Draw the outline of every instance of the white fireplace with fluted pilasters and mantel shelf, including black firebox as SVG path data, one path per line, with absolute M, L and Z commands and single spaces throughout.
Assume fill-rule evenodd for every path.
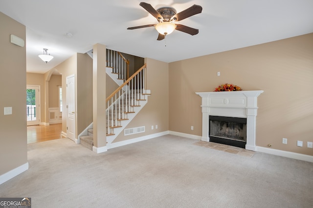
M 196 93 L 201 96 L 201 140 L 222 144 L 228 142 L 228 145 L 255 151 L 257 97 L 263 92 Z M 221 118 L 225 120 L 221 121 Z

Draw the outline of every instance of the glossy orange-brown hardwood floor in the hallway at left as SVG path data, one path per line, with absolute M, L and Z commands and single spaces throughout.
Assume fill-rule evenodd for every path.
M 27 144 L 64 138 L 61 133 L 62 123 L 27 126 Z

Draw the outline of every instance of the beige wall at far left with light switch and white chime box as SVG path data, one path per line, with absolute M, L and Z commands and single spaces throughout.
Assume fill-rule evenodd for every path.
M 0 12 L 0 28 L 1 176 L 27 163 L 27 132 L 26 47 L 10 43 L 11 34 L 26 40 L 25 26 Z M 12 114 L 4 115 L 4 107 L 12 107 Z

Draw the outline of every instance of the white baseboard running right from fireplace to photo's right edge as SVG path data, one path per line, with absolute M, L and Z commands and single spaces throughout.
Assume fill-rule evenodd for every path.
M 274 154 L 274 155 L 278 155 L 278 156 L 282 156 L 282 157 L 289 157 L 289 158 L 296 159 L 296 160 L 304 160 L 304 161 L 308 161 L 308 162 L 313 163 L 313 156 L 307 155 L 307 154 L 300 154 L 300 153 L 295 153 L 295 152 L 291 152 L 291 151 L 269 149 L 269 148 L 259 147 L 259 146 L 256 147 L 256 151 L 264 152 L 264 153 L 268 153 L 268 154 Z

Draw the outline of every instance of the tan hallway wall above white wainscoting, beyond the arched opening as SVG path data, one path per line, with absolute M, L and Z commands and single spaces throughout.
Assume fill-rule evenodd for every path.
M 51 75 L 49 80 L 49 108 L 59 108 L 59 86 L 62 87 L 62 76 Z

